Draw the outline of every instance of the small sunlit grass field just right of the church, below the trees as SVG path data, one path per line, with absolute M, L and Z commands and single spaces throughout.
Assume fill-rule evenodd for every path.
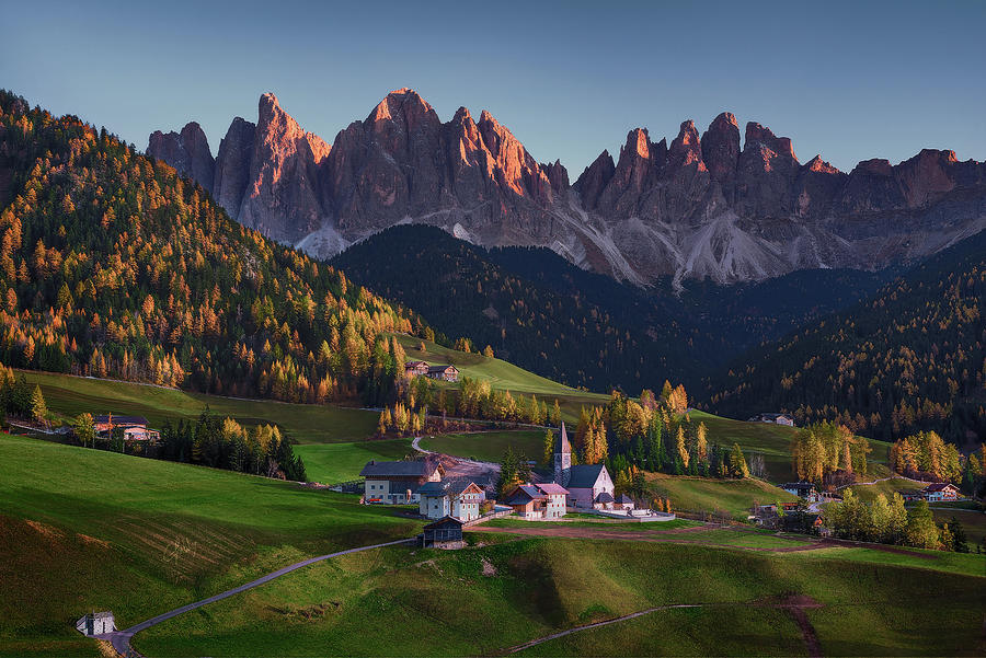
M 798 497 L 761 480 L 712 480 L 678 477 L 652 473 L 647 484 L 654 495 L 670 498 L 672 511 L 692 510 L 715 513 L 724 510 L 745 521 L 754 505 L 788 503 Z

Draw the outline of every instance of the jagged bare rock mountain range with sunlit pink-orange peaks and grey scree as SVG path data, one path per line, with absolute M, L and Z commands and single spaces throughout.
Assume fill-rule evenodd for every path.
M 190 128 L 191 126 L 191 128 Z M 730 113 L 670 145 L 644 128 L 570 184 L 489 112 L 443 123 L 419 94 L 391 92 L 328 145 L 261 96 L 236 118 L 215 173 L 193 124 L 148 154 L 187 172 L 231 217 L 325 257 L 398 223 L 429 223 L 483 246 L 546 246 L 583 268 L 651 285 L 670 277 L 757 281 L 800 269 L 874 270 L 917 262 L 986 228 L 986 164 L 924 150 L 846 174 L 801 164 L 787 137 Z M 184 160 L 183 160 L 184 158 Z M 195 172 L 200 173 L 195 173 Z M 198 176 L 204 176 L 204 180 Z

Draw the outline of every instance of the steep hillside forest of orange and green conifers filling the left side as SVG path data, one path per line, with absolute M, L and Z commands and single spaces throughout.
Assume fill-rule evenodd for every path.
M 227 217 L 174 169 L 0 92 L 0 359 L 210 393 L 392 396 L 424 323 Z M 398 362 L 401 361 L 401 362 Z

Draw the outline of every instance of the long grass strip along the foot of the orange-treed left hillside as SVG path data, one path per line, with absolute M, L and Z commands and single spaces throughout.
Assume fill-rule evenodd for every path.
M 25 370 L 27 381 L 41 384 L 48 408 L 66 420 L 82 412 L 145 416 L 151 427 L 167 420 L 195 419 L 205 405 L 242 425 L 279 425 L 296 441 L 326 443 L 372 435 L 379 414 L 333 405 L 287 404 L 271 400 L 239 400 L 188 393 L 177 389 Z

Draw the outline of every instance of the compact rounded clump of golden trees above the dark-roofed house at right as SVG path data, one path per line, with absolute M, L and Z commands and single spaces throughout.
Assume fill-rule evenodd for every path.
M 816 484 L 847 484 L 869 470 L 872 452 L 864 437 L 845 425 L 822 422 L 804 427 L 791 441 L 791 462 L 799 480 Z

